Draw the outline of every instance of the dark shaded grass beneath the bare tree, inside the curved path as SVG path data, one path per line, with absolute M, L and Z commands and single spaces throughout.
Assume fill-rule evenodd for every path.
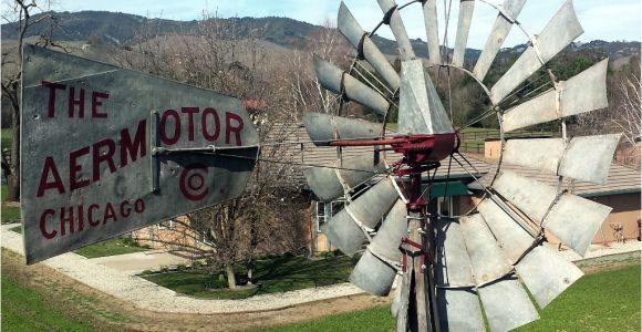
M 312 287 L 346 282 L 358 259 L 344 256 L 322 260 L 304 257 L 283 256 L 257 261 L 255 288 L 228 290 L 227 281 L 219 279 L 219 272 L 207 268 L 143 276 L 143 278 L 172 289 L 178 293 L 197 298 L 246 299 L 249 297 L 284 292 Z M 237 276 L 245 276 L 245 267 L 238 267 Z M 239 279 L 237 277 L 237 279 Z

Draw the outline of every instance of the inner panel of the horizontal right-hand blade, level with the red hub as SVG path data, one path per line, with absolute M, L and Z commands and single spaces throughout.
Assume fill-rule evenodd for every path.
M 556 174 L 563 151 L 565 144 L 561 138 L 508 139 L 501 160 Z

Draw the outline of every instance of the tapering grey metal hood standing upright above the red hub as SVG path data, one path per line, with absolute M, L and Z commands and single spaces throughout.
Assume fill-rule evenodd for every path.
M 398 132 L 433 135 L 453 133 L 453 125 L 421 60 L 402 62 Z

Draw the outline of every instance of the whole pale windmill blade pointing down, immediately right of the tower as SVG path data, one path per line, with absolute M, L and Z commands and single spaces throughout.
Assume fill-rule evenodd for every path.
M 480 331 L 484 319 L 477 293 L 470 259 L 459 222 L 451 219 L 437 221 L 437 312 L 441 328 L 446 331 Z

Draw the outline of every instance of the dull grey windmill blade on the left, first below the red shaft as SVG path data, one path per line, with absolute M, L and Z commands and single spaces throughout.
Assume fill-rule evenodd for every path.
M 334 167 L 310 167 L 303 170 L 308 185 L 322 201 L 334 200 L 386 169 L 385 162 L 375 158 L 374 154 L 344 158 Z

